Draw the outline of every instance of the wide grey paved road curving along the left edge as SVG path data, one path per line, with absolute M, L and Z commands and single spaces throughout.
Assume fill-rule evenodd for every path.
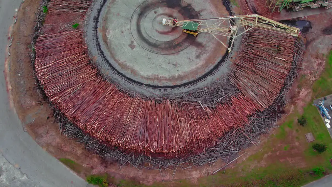
M 0 0 L 0 71 L 5 69 L 7 33 L 13 22 L 15 9 L 22 0 Z M 28 181 L 41 187 L 85 187 L 87 183 L 72 173 L 58 160 L 45 152 L 29 134 L 23 131 L 22 124 L 8 102 L 6 82 L 0 76 L 0 152 L 11 165 L 26 174 Z M 4 159 L 2 159 L 4 160 Z M 2 167 L 5 167 L 2 162 Z M 2 167 L 1 173 L 4 173 Z M 3 175 L 1 176 L 3 179 Z M 24 178 L 24 177 L 23 177 Z M 8 181 L 7 181 L 8 182 Z M 10 182 L 10 181 L 9 181 Z M 3 183 L 4 184 L 4 183 Z M 0 183 L 0 186 L 3 186 Z M 28 186 L 9 183 L 5 186 Z M 30 184 L 29 184 L 30 185 Z M 34 184 L 31 183 L 31 186 Z

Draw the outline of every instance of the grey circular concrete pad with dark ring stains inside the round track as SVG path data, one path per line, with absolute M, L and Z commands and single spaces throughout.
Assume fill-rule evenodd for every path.
M 194 82 L 220 65 L 226 47 L 209 33 L 197 37 L 181 27 L 162 25 L 179 20 L 229 16 L 221 1 L 101 0 L 98 43 L 103 62 L 119 75 L 141 85 L 170 87 Z M 98 12 L 97 12 L 98 13 Z M 97 14 L 96 13 L 96 14 Z M 227 38 L 220 38 L 227 43 Z M 109 75 L 109 69 L 102 72 Z M 222 73 L 227 68 L 221 69 Z

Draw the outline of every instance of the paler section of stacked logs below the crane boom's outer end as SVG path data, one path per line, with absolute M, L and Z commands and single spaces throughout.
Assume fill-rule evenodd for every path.
M 244 38 L 244 47 L 235 61 L 231 82 L 262 111 L 271 105 L 284 86 L 293 49 L 292 36 L 254 29 Z

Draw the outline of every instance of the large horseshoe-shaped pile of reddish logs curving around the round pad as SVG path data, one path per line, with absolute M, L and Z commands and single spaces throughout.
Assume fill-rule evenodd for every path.
M 52 104 L 104 144 L 147 155 L 185 153 L 243 127 L 248 116 L 277 98 L 291 67 L 294 39 L 262 33 L 247 33 L 242 57 L 233 66 L 230 79 L 240 93 L 214 108 L 157 103 L 119 91 L 91 66 L 79 30 L 42 35 L 35 47 L 35 70 Z M 276 45 L 283 50 L 278 52 Z

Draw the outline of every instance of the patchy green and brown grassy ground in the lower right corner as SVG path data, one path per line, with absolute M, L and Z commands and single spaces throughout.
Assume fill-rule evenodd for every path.
M 305 76 L 300 77 L 299 85 L 307 82 Z M 319 80 L 312 86 L 312 98 L 303 108 L 300 114 L 296 108 L 293 109 L 285 122 L 275 134 L 270 135 L 261 149 L 250 155 L 246 161 L 234 168 L 220 171 L 215 175 L 209 175 L 198 179 L 197 183 L 190 183 L 187 180 L 173 181 L 174 187 L 299 187 L 313 180 L 321 178 L 322 172 L 332 171 L 329 159 L 332 157 L 332 141 L 326 127 L 315 106 L 312 105 L 314 96 L 322 97 L 332 94 L 332 51 L 328 56 L 325 71 Z M 301 86 L 301 87 L 302 87 Z M 327 89 L 326 89 L 327 88 Z M 297 118 L 304 116 L 307 120 L 305 126 L 299 125 Z M 315 141 L 308 143 L 305 134 L 311 132 Z M 312 149 L 314 143 L 324 143 L 327 150 L 321 154 Z M 297 151 L 295 155 L 294 151 Z M 277 156 L 280 154 L 281 156 Z M 300 167 L 291 165 L 289 161 L 281 161 L 290 155 L 295 162 L 302 164 Z M 268 159 L 272 157 L 272 159 Z M 262 164 L 264 161 L 264 164 Z M 119 186 L 144 187 L 137 183 L 121 180 L 117 181 Z M 170 186 L 168 183 L 155 183 L 153 187 Z

